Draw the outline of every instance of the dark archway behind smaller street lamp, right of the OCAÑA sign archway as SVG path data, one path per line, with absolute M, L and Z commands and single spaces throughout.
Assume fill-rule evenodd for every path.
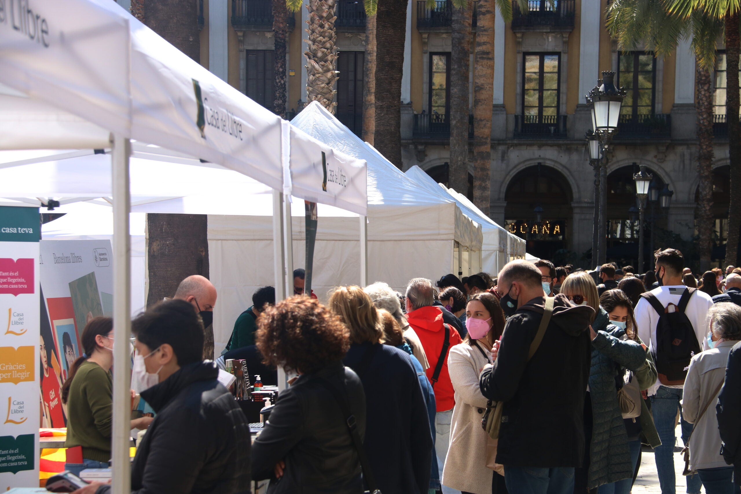
M 607 177 L 607 261 L 616 261 L 621 266 L 635 266 L 638 262 L 639 204 L 633 179 L 638 171 L 638 164 L 633 163 L 614 170 Z M 649 167 L 645 167 L 645 171 L 654 176 L 651 188 L 656 190 L 654 196 L 657 196 L 665 183 L 656 171 Z M 659 206 L 659 200 L 650 199 L 651 195 L 646 199 L 643 231 L 643 258 L 648 262 L 657 247 L 656 242 L 663 238 L 660 232 L 666 230 L 668 213 Z M 634 208 L 632 213 L 631 207 Z M 645 268 L 637 269 L 642 272 Z

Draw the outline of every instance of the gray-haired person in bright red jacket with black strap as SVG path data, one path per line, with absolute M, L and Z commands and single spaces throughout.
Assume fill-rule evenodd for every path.
M 451 418 L 453 406 L 453 383 L 448 373 L 448 350 L 459 344 L 462 339 L 456 328 L 442 321 L 442 310 L 434 307 L 432 281 L 426 278 L 414 278 L 409 281 L 406 293 L 407 320 L 414 332 L 422 341 L 425 356 L 430 367 L 425 372 L 432 383 L 435 393 L 435 453 L 439 471 L 445 466 L 445 456 L 448 455 L 448 445 L 451 438 Z M 443 486 L 443 494 L 457 491 Z

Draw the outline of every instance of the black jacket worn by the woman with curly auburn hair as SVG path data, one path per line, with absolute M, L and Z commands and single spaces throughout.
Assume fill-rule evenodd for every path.
M 365 393 L 360 379 L 342 362 L 301 375 L 279 395 L 265 429 L 253 444 L 252 471 L 270 478 L 270 494 L 362 494 L 360 461 L 345 416 L 319 379 L 347 390 L 357 429 L 365 435 Z M 282 478 L 274 470 L 285 461 Z

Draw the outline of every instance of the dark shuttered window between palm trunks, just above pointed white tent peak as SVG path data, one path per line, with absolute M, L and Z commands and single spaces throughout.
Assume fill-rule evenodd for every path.
M 357 135 L 363 130 L 364 61 L 362 51 L 342 51 L 337 57 L 337 119 Z

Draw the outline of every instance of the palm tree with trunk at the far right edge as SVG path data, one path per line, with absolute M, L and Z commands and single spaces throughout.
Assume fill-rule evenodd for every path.
M 741 125 L 739 124 L 739 10 L 741 0 L 674 0 L 670 10 L 688 18 L 694 12 L 725 21 L 725 121 L 728 125 L 728 161 L 731 165 L 731 204 L 728 207 L 728 239 L 725 264 L 737 264 L 741 216 Z

